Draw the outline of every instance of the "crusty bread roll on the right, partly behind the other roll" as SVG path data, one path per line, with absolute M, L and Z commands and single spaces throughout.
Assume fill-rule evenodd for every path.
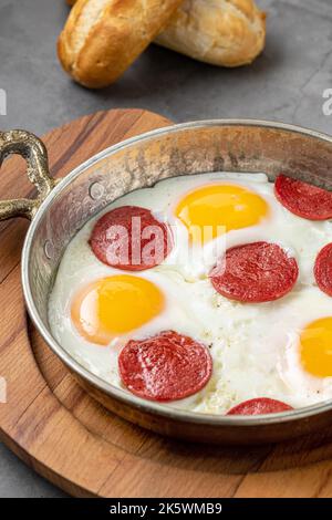
M 214 65 L 251 63 L 263 50 L 266 14 L 253 0 L 185 0 L 156 42 Z

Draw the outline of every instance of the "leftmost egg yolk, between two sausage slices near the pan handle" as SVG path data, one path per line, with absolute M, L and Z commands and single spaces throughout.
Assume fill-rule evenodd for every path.
M 96 280 L 73 299 L 71 318 L 89 342 L 108 345 L 144 325 L 164 309 L 164 294 L 151 281 L 129 274 Z

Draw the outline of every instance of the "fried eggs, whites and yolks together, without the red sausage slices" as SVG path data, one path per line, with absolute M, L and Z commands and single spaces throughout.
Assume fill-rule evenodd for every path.
M 157 267 L 137 272 L 102 263 L 89 246 L 98 218 L 122 206 L 149 209 L 169 226 L 173 249 Z M 93 217 L 60 262 L 49 301 L 54 337 L 79 363 L 122 387 L 117 356 L 131 339 L 175 330 L 212 356 L 206 388 L 165 406 L 225 414 L 238 403 L 271 397 L 293 407 L 332 398 L 332 301 L 313 264 L 331 241 L 331 221 L 288 211 L 264 174 L 214 173 L 162 180 L 133 191 Z M 209 272 L 225 250 L 272 241 L 299 266 L 292 291 L 267 303 L 218 294 Z

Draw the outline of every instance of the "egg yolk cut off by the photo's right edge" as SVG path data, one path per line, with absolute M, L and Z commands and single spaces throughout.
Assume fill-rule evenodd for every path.
M 332 376 L 332 318 L 315 320 L 300 335 L 301 363 L 318 377 Z

